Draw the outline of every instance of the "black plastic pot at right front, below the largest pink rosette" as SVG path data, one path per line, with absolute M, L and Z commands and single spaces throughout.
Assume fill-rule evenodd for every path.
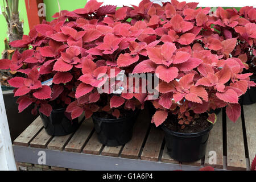
M 196 162 L 204 158 L 213 125 L 210 125 L 207 130 L 193 134 L 177 133 L 164 125 L 161 127 L 165 134 L 168 154 L 172 159 L 179 162 Z

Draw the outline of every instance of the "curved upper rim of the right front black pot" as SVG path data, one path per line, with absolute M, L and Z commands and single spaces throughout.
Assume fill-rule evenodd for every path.
M 181 137 L 181 138 L 192 138 L 192 137 L 200 137 L 202 135 L 205 135 L 208 133 L 210 130 L 213 129 L 213 124 L 211 124 L 207 129 L 197 132 L 197 133 L 179 133 L 176 131 L 171 131 L 168 129 L 164 124 L 162 124 L 160 127 L 163 129 L 163 131 L 169 135 L 174 135 L 175 137 Z

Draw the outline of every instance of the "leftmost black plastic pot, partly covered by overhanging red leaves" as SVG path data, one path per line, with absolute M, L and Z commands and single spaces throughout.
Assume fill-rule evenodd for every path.
M 71 134 L 78 129 L 78 119 L 73 119 L 72 121 L 68 119 L 65 115 L 65 110 L 65 108 L 52 110 L 49 117 L 39 112 L 44 129 L 48 135 L 61 137 Z

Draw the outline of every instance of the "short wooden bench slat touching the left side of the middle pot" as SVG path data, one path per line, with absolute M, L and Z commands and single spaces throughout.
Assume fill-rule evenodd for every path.
M 82 152 L 85 154 L 100 155 L 100 151 L 103 145 L 98 141 L 97 137 L 97 133 L 94 132 L 88 143 L 86 143 L 86 146 Z

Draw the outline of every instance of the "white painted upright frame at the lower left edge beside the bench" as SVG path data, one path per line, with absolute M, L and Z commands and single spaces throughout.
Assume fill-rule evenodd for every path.
M 0 171 L 16 171 L 5 103 L 0 84 Z

